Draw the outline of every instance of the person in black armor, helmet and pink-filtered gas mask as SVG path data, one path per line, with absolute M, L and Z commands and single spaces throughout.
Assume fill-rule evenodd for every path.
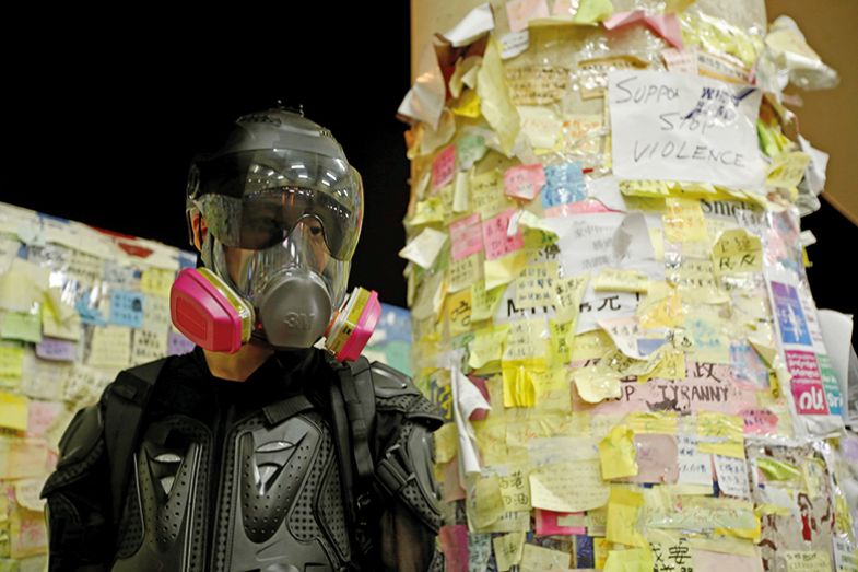
M 187 201 L 201 262 L 171 314 L 197 348 L 121 372 L 67 429 L 50 570 L 438 569 L 443 418 L 360 357 L 380 306 L 345 293 L 363 189 L 339 143 L 303 114 L 243 116 Z

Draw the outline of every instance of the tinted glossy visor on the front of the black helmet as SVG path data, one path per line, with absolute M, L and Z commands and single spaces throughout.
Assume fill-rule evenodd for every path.
M 363 186 L 345 161 L 274 149 L 223 155 L 197 168 L 199 190 L 190 200 L 223 245 L 266 249 L 307 221 L 329 256 L 345 261 L 354 254 Z

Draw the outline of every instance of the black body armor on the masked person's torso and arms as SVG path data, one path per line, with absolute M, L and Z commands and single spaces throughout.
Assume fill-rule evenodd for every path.
M 60 443 L 43 492 L 51 570 L 430 569 L 439 513 L 428 434 L 440 419 L 401 374 L 356 369 L 309 350 L 226 382 L 197 350 L 168 360 L 149 389 L 124 372 Z M 357 378 L 371 390 L 363 407 Z M 127 471 L 114 466 L 124 457 Z M 385 555 L 384 535 L 403 525 L 400 553 Z

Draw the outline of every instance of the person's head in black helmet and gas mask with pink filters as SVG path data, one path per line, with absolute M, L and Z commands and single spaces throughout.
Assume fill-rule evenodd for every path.
M 191 166 L 189 231 L 207 225 L 203 267 L 179 272 L 173 323 L 195 343 L 233 353 L 252 338 L 278 349 L 322 336 L 355 360 L 380 315 L 375 292 L 345 295 L 363 187 L 331 135 L 272 109 L 239 118 L 226 145 Z

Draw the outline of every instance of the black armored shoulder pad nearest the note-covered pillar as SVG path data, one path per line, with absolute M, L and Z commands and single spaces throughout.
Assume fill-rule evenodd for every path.
M 369 365 L 378 411 L 399 411 L 435 431 L 444 424 L 444 415 L 423 397 L 411 377 L 380 362 Z

